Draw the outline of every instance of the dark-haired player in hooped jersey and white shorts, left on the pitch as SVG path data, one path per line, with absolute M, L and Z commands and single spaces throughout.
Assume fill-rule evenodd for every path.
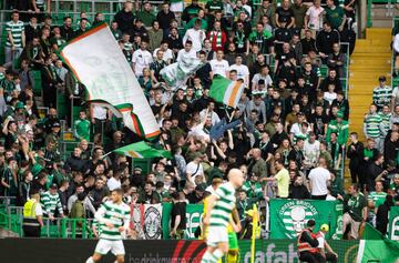
M 95 246 L 94 254 L 86 260 L 86 263 L 100 262 L 103 255 L 111 251 L 116 256 L 117 263 L 124 262 L 125 250 L 122 239 L 126 232 L 130 232 L 130 212 L 127 204 L 123 203 L 123 191 L 114 189 L 111 194 L 111 201 L 101 205 L 95 213 L 101 233 L 99 243 Z

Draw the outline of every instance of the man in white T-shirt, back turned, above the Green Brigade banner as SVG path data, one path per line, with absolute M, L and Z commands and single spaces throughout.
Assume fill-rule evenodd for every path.
M 317 168 L 311 169 L 309 173 L 309 186 L 311 199 L 326 200 L 328 190 L 328 182 L 331 180 L 331 174 L 327 170 L 327 161 L 324 158 L 319 158 L 319 164 Z

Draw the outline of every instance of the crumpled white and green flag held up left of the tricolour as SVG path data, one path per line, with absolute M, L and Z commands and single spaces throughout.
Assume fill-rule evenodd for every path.
M 203 67 L 197 58 L 183 58 L 181 61 L 170 64 L 160 71 L 165 83 L 173 90 L 185 85 L 188 77 Z

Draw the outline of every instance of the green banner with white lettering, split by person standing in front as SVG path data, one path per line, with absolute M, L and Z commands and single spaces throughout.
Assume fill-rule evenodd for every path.
M 171 239 L 171 212 L 173 204 L 164 203 L 163 204 L 163 216 L 162 216 L 162 232 L 163 240 Z M 202 221 L 202 215 L 204 211 L 203 204 L 187 204 L 186 205 L 186 230 L 184 231 L 184 239 L 194 240 L 195 231 L 200 226 Z

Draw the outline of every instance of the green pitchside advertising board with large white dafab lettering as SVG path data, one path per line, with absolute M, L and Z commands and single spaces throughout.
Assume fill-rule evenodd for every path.
M 355 263 L 359 241 L 329 240 L 339 263 Z M 250 263 L 250 241 L 239 241 L 239 262 Z M 257 240 L 254 263 L 299 263 L 296 240 Z

